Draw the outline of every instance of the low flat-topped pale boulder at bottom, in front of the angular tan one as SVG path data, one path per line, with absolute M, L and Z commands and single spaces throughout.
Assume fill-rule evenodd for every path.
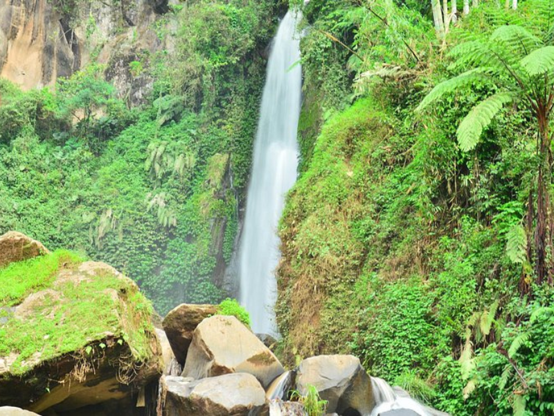
M 193 381 L 164 376 L 164 416 L 247 416 L 265 407 L 265 391 L 256 377 L 237 373 Z

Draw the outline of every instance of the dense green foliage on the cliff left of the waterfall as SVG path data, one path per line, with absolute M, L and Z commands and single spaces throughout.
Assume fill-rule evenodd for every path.
M 105 261 L 160 313 L 222 300 L 279 6 L 199 0 L 154 22 L 175 50 L 129 63 L 154 80 L 138 108 L 98 64 L 54 89 L 0 81 L 0 234 Z

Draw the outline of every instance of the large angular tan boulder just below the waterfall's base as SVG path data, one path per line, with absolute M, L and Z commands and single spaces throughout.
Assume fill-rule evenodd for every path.
M 245 372 L 267 388 L 284 371 L 277 357 L 237 318 L 215 315 L 195 329 L 181 375 L 203 379 Z

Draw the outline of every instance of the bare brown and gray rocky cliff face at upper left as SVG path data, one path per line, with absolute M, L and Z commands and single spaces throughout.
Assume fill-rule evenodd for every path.
M 32 89 L 94 61 L 140 102 L 151 82 L 129 63 L 170 48 L 157 34 L 167 11 L 167 0 L 0 0 L 0 76 Z

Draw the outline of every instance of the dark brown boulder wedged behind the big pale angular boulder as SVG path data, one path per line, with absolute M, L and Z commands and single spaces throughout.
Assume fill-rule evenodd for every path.
M 188 347 L 193 342 L 193 333 L 198 324 L 216 312 L 213 305 L 180 304 L 163 318 L 163 331 L 166 331 L 179 364 L 185 365 Z

